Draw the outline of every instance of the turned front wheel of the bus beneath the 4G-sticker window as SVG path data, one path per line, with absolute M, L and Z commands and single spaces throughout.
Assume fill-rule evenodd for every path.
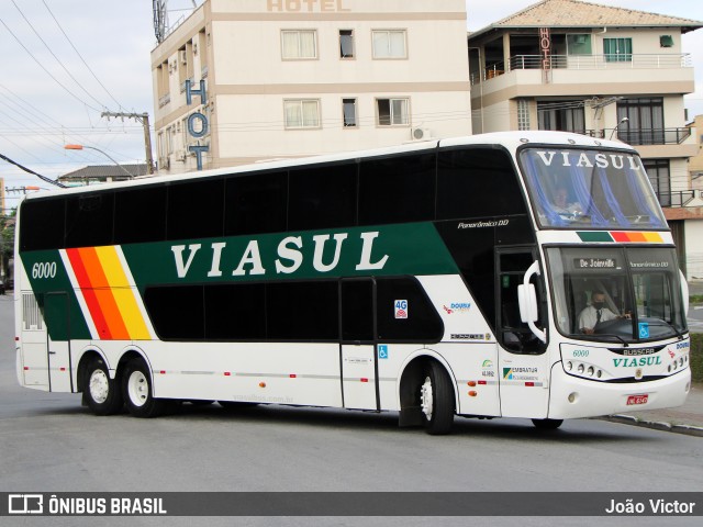
M 427 434 L 451 431 L 454 424 L 454 390 L 446 371 L 431 361 L 425 368 L 425 380 L 420 386 L 420 406 Z

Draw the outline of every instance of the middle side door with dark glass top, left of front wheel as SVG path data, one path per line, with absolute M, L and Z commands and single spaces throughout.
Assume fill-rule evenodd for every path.
M 345 408 L 378 410 L 378 362 L 375 341 L 375 282 L 341 281 L 339 360 Z

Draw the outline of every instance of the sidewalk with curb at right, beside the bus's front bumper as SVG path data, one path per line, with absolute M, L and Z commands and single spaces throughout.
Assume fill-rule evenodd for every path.
M 703 384 L 694 383 L 682 406 L 644 410 L 603 417 L 606 421 L 703 437 Z

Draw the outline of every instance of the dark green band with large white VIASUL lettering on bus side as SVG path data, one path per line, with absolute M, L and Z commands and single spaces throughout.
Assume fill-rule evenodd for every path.
M 123 246 L 147 285 L 459 272 L 432 223 Z

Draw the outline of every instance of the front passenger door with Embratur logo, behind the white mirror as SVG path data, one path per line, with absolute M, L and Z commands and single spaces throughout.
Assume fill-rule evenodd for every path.
M 499 382 L 503 417 L 546 418 L 549 403 L 549 361 L 546 345 L 521 319 L 517 285 L 536 260 L 532 248 L 496 249 L 496 325 L 499 347 Z M 544 272 L 540 270 L 540 272 Z M 533 274 L 539 321 L 545 327 L 542 277 Z

